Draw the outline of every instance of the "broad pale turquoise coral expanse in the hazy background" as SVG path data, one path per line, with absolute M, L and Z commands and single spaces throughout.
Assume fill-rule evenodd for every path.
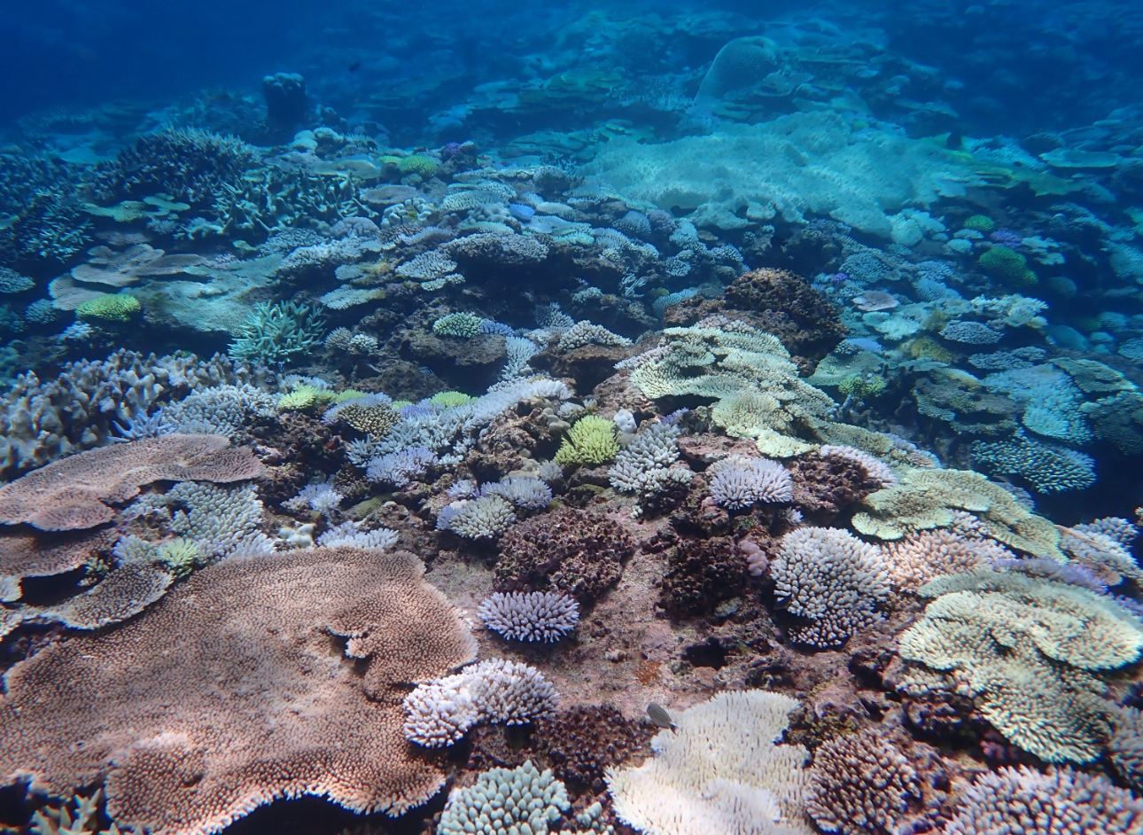
M 976 181 L 933 143 L 858 130 L 837 113 L 792 113 L 657 145 L 615 140 L 581 172 L 626 199 L 694 209 L 697 226 L 742 229 L 828 215 L 889 238 L 892 215 Z

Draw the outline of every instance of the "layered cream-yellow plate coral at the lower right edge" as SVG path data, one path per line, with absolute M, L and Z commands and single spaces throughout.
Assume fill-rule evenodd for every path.
M 1143 623 L 1110 598 L 1015 571 L 977 568 L 921 594 L 941 596 L 901 635 L 902 658 L 954 674 L 998 731 L 1041 760 L 1100 756 L 1108 733 L 1100 674 L 1140 658 Z M 933 689 L 902 682 L 903 692 Z

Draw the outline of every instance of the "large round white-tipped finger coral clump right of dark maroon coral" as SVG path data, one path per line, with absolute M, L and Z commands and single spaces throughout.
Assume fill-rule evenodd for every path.
M 840 646 L 880 620 L 889 595 L 881 550 L 836 527 L 802 527 L 785 534 L 770 562 L 774 594 L 796 625 L 791 636 L 810 646 Z

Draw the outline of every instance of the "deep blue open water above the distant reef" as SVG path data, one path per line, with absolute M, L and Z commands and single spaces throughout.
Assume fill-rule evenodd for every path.
M 555 57 L 559 31 L 592 11 L 629 18 L 688 10 L 740 14 L 753 33 L 780 42 L 786 27 L 775 24 L 794 19 L 822 22 L 823 42 L 882 41 L 933 65 L 954 88 L 948 92 L 962 130 L 1090 122 L 1133 101 L 1143 75 L 1141 13 L 1118 2 L 838 2 L 791 10 L 759 2 L 50 1 L 5 11 L 0 72 L 9 82 L 0 124 L 59 105 L 167 103 L 211 87 L 256 93 L 261 77 L 278 71 L 303 73 L 311 90 L 344 110 L 378 86 L 443 66 L 457 75 L 459 100 L 472 86 Z M 805 25 L 800 37 L 805 42 Z M 712 38 L 687 54 L 642 53 L 623 64 L 630 74 L 681 70 L 710 61 L 719 46 Z M 354 63 L 360 71 L 351 74 Z

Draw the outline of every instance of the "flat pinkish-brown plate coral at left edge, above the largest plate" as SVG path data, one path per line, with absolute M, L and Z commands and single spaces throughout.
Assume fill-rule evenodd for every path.
M 110 507 L 158 480 L 241 482 L 262 472 L 221 435 L 162 435 L 89 450 L 0 487 L 0 524 L 78 531 L 114 518 Z

